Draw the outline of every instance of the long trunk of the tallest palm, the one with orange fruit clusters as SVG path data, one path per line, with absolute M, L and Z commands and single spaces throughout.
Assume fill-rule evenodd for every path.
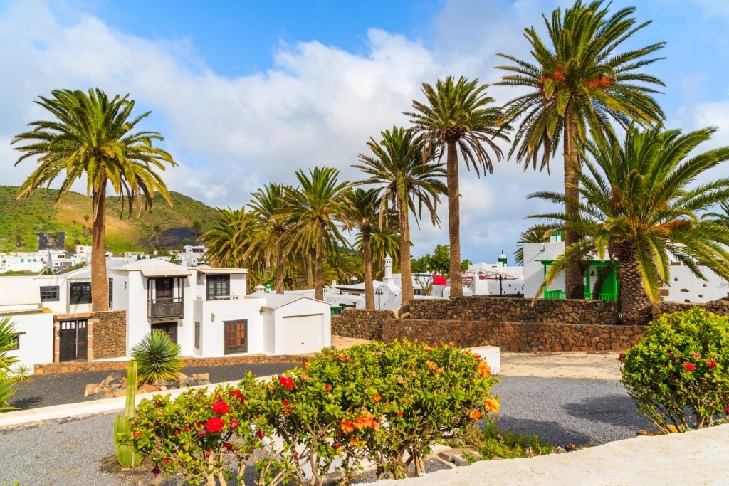
M 566 122 L 564 124 L 564 195 L 579 200 L 580 192 L 579 182 L 577 181 L 576 171 L 580 170 L 580 158 L 577 157 L 577 119 L 571 109 L 567 109 Z M 574 170 L 572 165 L 574 165 Z M 565 214 L 580 214 L 580 209 L 572 204 L 565 204 Z M 564 234 L 564 248 L 577 243 L 580 235 L 572 230 L 566 231 Z M 580 262 L 569 264 L 564 269 L 564 286 L 568 299 L 584 299 L 585 283 L 582 278 L 582 268 Z

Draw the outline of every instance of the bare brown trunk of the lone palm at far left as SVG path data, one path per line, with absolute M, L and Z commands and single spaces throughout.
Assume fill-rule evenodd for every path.
M 106 177 L 102 176 L 92 195 L 91 225 L 91 310 L 109 310 L 109 281 L 106 278 Z

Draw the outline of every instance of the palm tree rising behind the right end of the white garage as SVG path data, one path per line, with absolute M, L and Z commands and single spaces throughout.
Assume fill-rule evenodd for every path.
M 287 204 L 282 217 L 296 222 L 286 251 L 297 248 L 313 254 L 314 298 L 319 300 L 324 300 L 324 253 L 347 245 L 336 219 L 348 182 L 339 182 L 338 176 L 339 171 L 330 167 L 309 169 L 308 176 L 299 170 L 296 178 L 300 189 L 285 189 Z

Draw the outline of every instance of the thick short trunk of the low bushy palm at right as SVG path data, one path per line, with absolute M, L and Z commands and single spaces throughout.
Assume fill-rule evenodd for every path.
M 651 318 L 652 301 L 638 269 L 635 251 L 628 244 L 616 245 L 612 254 L 617 258 L 617 302 L 622 324 L 646 324 Z

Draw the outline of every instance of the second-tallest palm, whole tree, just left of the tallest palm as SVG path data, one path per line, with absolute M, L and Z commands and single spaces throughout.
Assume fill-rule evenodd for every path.
M 488 85 L 478 85 L 478 79 L 469 81 L 453 77 L 438 81 L 435 87 L 423 84 L 426 103 L 413 100 L 413 113 L 405 113 L 413 124 L 411 130 L 422 134 L 426 153 L 445 147 L 446 184 L 448 184 L 448 243 L 451 247 L 451 297 L 463 297 L 461 279 L 461 203 L 459 198 L 458 151 L 466 162 L 466 168 L 477 177 L 480 171 L 493 173 L 491 154 L 501 160 L 502 150 L 494 139 L 508 141 L 504 131 L 509 125 L 497 128 L 502 118 L 501 109 L 488 106 L 494 98 L 486 95 Z M 440 150 L 438 158 L 443 156 Z

